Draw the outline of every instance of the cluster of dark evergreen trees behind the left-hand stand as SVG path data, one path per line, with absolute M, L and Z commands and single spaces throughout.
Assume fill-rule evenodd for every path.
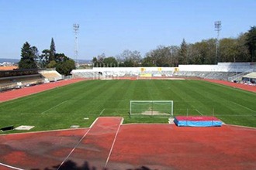
M 21 49 L 19 69 L 44 69 L 56 68 L 58 73 L 69 75 L 75 69 L 74 60 L 64 53 L 56 53 L 54 39 L 51 39 L 50 49 L 43 49 L 42 53 L 36 46 L 25 42 Z

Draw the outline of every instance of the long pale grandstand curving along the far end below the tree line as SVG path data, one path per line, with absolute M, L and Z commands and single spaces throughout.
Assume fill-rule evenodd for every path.
M 256 71 L 255 63 L 218 63 L 217 65 L 179 65 L 178 67 L 94 67 L 92 70 L 72 70 L 74 78 L 118 79 L 122 77 L 174 78 L 196 77 L 238 81 Z

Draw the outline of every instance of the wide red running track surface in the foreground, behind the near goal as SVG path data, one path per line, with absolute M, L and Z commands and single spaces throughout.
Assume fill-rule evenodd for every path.
M 121 122 L 100 117 L 92 128 L 0 135 L 0 169 L 256 169 L 255 128 Z

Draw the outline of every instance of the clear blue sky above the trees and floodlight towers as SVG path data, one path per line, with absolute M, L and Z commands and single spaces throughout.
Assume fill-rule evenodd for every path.
M 20 59 L 29 42 L 74 59 L 74 23 L 79 24 L 78 59 L 157 46 L 180 46 L 216 37 L 236 38 L 256 26 L 255 0 L 0 0 L 0 58 Z

